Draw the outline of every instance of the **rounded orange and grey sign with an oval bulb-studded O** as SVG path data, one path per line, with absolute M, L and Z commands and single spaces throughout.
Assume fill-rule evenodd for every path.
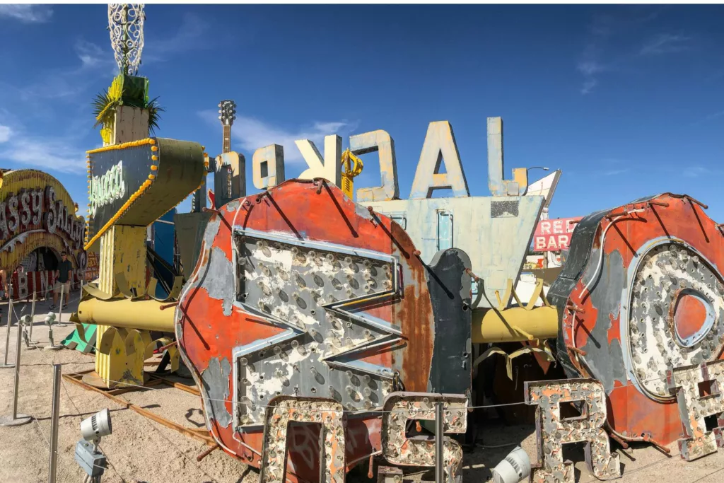
M 671 193 L 576 225 L 548 293 L 560 317 L 557 358 L 569 377 L 602 382 L 608 424 L 622 439 L 678 440 L 665 371 L 722 357 L 723 240 L 702 206 Z M 685 315 L 683 303 L 698 310 Z

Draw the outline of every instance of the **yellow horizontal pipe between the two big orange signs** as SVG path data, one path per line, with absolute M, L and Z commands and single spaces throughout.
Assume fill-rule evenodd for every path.
M 521 342 L 551 339 L 558 335 L 555 307 L 476 308 L 473 311 L 473 343 Z

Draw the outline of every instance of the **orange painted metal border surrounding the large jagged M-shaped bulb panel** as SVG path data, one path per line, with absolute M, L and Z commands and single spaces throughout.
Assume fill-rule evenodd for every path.
M 219 277 L 218 273 L 209 271 L 211 253 L 214 257 L 223 255 L 224 264 L 232 264 L 235 228 L 396 256 L 403 266 L 402 271 L 410 277 L 402 284 L 403 293 L 393 303 L 379 303 L 379 306 L 365 310 L 367 314 L 395 324 L 402 332 L 402 340 L 394 346 L 380 345 L 363 351 L 358 360 L 398 371 L 405 390 L 427 390 L 434 324 L 426 267 L 414 256 L 413 243 L 397 224 L 355 205 L 337 187 L 321 180 L 315 183 L 289 180 L 271 188 L 265 196 L 240 198 L 212 214 L 198 263 L 176 309 L 179 348 L 200 388 L 203 388 L 201 374 L 209 369 L 210 361 L 225 359 L 234 364 L 232 351 L 235 348 L 285 332 L 264 316 L 251 314 L 240 306 L 224 311 L 224 304 L 230 305 L 232 301 L 219 300 L 209 293 L 208 281 L 211 277 Z M 220 282 L 233 286 L 235 279 Z M 224 386 L 228 384 L 224 407 L 232 415 L 233 379 L 234 371 L 231 371 L 228 382 L 224 382 Z M 206 397 L 208 389 L 202 390 Z M 209 414 L 208 408 L 206 412 Z M 345 424 L 346 461 L 362 461 L 380 450 L 379 416 L 379 412 L 370 411 L 348 418 Z M 235 420 L 233 416 L 232 419 Z M 253 466 L 260 465 L 261 425 L 239 432 L 235 422 L 223 426 L 213 417 L 209 421 L 211 434 L 226 453 Z M 311 455 L 310 448 L 316 448 L 318 437 L 319 427 L 290 425 L 288 479 L 316 481 L 319 461 L 316 455 Z

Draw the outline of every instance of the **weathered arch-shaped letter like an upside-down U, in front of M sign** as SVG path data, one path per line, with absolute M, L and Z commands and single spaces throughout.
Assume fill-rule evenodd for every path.
M 289 423 L 321 424 L 319 482 L 345 481 L 345 413 L 332 399 L 277 396 L 266 406 L 264 445 L 259 483 L 287 481 L 287 429 Z

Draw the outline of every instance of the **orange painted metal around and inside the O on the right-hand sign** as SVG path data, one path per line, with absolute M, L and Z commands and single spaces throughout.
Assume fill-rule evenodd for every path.
M 586 219 L 583 223 L 585 222 Z M 604 232 L 605 240 L 601 246 L 600 239 Z M 576 243 L 575 237 L 576 234 L 572 244 Z M 646 434 L 647 440 L 668 445 L 681 437 L 682 432 L 675 398 L 657 400 L 644 394 L 636 387 L 623 366 L 618 365 L 621 361 L 611 361 L 606 352 L 610 347 L 620 345 L 622 350 L 627 350 L 621 340 L 623 321 L 620 319 L 621 308 L 626 308 L 626 303 L 613 303 L 613 306 L 605 308 L 601 303 L 594 303 L 595 297 L 592 296 L 597 291 L 610 289 L 607 287 L 607 277 L 614 273 L 615 267 L 612 264 L 616 257 L 620 256 L 626 277 L 628 267 L 638 262 L 636 253 L 641 250 L 645 252 L 647 243 L 661 238 L 681 240 L 683 244 L 693 247 L 710 261 L 715 271 L 718 271 L 717 267 L 724 267 L 723 232 L 705 214 L 702 204 L 693 198 L 666 193 L 613 209 L 610 214 L 599 217 L 592 251 L 584 267 L 587 268 L 586 276 L 579 275 L 568 300 L 563 301 L 565 305 L 562 306 L 570 309 L 563 310 L 560 315 L 559 344 L 562 342 L 565 345 L 570 358 L 569 364 L 564 365 L 573 369 L 578 377 L 613 379 L 613 385 L 607 387 L 607 408 L 608 423 L 615 432 L 631 440 L 640 439 Z M 599 280 L 589 287 L 590 290 L 586 290 L 586 283 L 593 276 L 600 249 L 604 251 L 604 257 L 599 267 Z M 631 280 L 626 282 L 630 283 Z M 613 290 L 620 288 L 617 286 Z M 672 314 L 678 327 L 683 329 L 684 336 L 702 327 L 705 316 L 699 301 L 687 301 L 687 298 L 682 299 L 683 303 L 679 303 L 676 313 Z M 597 327 L 597 324 L 605 324 L 605 327 Z M 605 335 L 605 338 L 602 339 L 596 334 Z M 719 335 L 718 339 L 721 338 Z M 595 352 L 593 355 L 592 348 Z M 587 355 L 584 355 L 582 350 L 585 350 Z M 710 359 L 721 357 L 721 351 L 718 350 L 712 353 Z M 568 375 L 572 377 L 574 374 L 568 370 Z

